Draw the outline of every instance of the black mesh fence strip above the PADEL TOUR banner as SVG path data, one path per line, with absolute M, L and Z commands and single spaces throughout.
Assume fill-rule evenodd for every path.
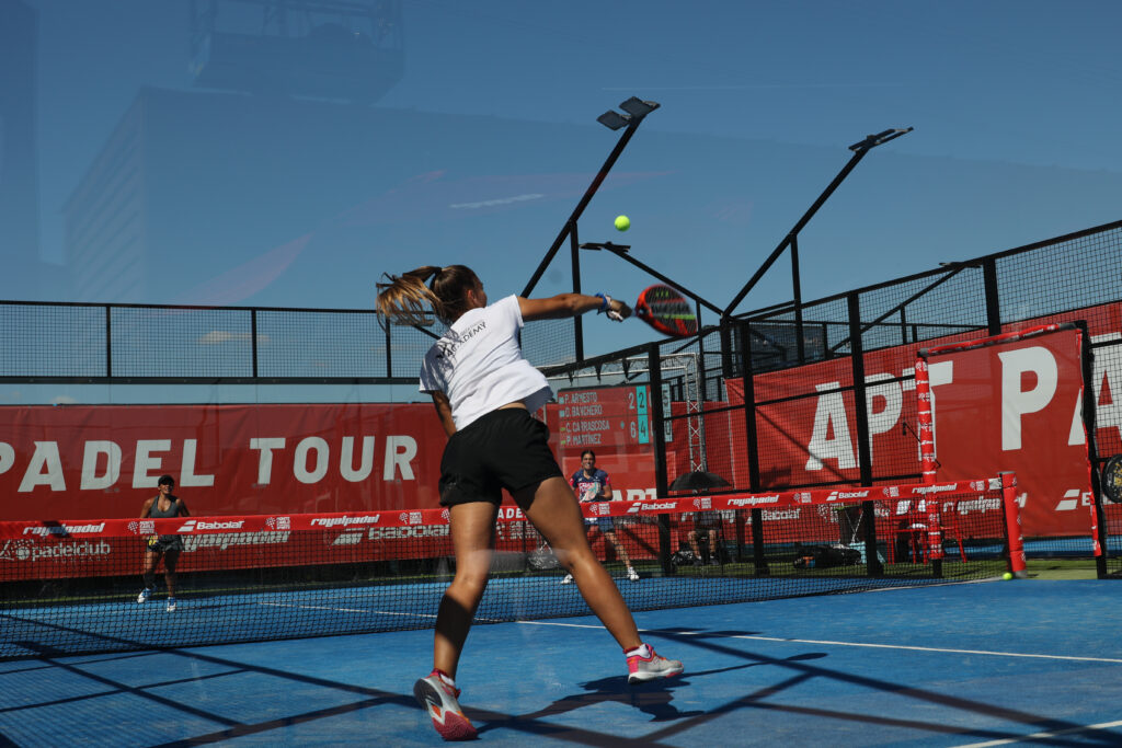
M 525 329 L 536 366 L 576 360 L 571 321 Z M 0 380 L 416 381 L 444 326 L 370 311 L 0 302 Z

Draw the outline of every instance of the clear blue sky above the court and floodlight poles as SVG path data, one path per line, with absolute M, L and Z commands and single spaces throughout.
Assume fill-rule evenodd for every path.
M 269 157 L 238 161 L 255 138 L 223 137 L 240 121 L 223 102 L 255 102 L 193 86 L 185 1 L 22 1 L 38 11 L 35 253 L 48 271 L 10 274 L 13 298 L 367 308 L 380 271 L 450 262 L 476 267 L 491 296 L 517 293 L 616 142 L 596 117 L 631 95 L 662 107 L 580 237 L 629 243 L 720 306 L 847 146 L 886 128 L 914 131 L 873 150 L 800 236 L 807 298 L 1122 218 L 1116 2 L 405 0 L 404 75 L 373 104 L 403 123 L 347 127 L 367 114 L 296 102 L 331 122 L 330 153 L 310 136 L 316 158 L 355 154 L 353 170 L 316 170 L 286 121 L 263 128 Z M 71 277 L 64 206 L 145 89 L 173 92 L 173 112 L 205 98 L 194 126 L 166 118 L 160 147 L 229 148 L 215 163 L 238 194 L 215 196 L 230 179 L 205 159 L 151 158 L 145 280 L 91 288 Z M 610 256 L 581 261 L 587 290 L 633 297 L 651 281 Z M 570 284 L 565 250 L 537 292 Z M 783 261 L 738 311 L 788 298 Z M 589 327 L 600 350 L 646 335 Z

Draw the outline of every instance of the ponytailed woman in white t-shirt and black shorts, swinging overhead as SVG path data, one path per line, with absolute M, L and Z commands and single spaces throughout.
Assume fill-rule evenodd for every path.
M 524 322 L 592 310 L 623 321 L 631 308 L 608 296 L 507 296 L 488 305 L 484 285 L 462 265 L 422 267 L 379 285 L 378 312 L 422 323 L 431 308 L 448 331 L 425 354 L 421 390 L 432 395 L 448 445 L 440 502 L 449 508 L 456 576 L 436 615 L 432 673 L 413 693 L 449 740 L 476 737 L 457 698 L 456 669 L 487 587 L 502 489 L 514 497 L 577 582 L 588 607 L 627 658 L 628 682 L 678 675 L 682 664 L 640 640 L 635 620 L 611 578 L 592 555 L 577 498 L 553 453 L 549 430 L 531 414 L 553 397 L 545 377 L 522 355 Z

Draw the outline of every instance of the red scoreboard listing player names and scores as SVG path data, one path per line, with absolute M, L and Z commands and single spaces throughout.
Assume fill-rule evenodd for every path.
M 562 449 L 597 449 L 651 443 L 646 385 L 567 389 L 558 393 Z

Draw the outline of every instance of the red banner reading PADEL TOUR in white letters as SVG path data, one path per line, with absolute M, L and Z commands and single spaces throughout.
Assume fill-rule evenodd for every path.
M 430 405 L 3 408 L 0 519 L 136 517 L 163 473 L 193 515 L 439 504 Z

